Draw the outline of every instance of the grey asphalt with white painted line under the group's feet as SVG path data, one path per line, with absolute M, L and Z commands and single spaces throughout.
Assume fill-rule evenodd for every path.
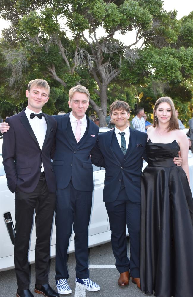
M 75 285 L 75 254 L 68 255 L 68 283 L 72 289 L 72 294 L 61 295 L 67 297 L 145 297 L 136 285 L 129 282 L 127 287 L 121 288 L 118 286 L 119 273 L 115 268 L 115 258 L 111 249 L 111 243 L 102 244 L 97 247 L 89 249 L 89 271 L 90 278 L 100 285 L 101 290 L 97 292 L 89 292 L 86 289 Z M 31 282 L 30 290 L 34 297 L 41 297 L 42 294 L 34 293 L 35 284 L 35 267 L 31 267 Z M 53 289 L 55 286 L 55 259 L 50 260 L 49 284 Z M 0 297 L 15 297 L 17 290 L 17 283 L 15 277 L 15 270 L 8 270 L 0 272 Z M 152 295 L 153 296 L 153 295 Z

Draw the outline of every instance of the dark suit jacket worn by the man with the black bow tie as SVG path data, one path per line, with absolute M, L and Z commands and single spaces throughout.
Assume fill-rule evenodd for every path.
M 56 179 L 51 155 L 54 152 L 56 120 L 44 113 L 47 130 L 40 149 L 24 110 L 6 119 L 10 129 L 3 135 L 2 152 L 8 188 L 12 193 L 16 187 L 22 192 L 33 192 L 39 182 L 43 162 L 48 190 L 54 193 Z

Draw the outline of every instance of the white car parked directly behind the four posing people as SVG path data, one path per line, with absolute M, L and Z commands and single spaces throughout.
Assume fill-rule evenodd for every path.
M 100 132 L 109 129 L 100 128 Z M 189 170 L 191 190 L 193 193 L 193 154 L 189 151 Z M 147 163 L 143 161 L 143 169 Z M 142 169 L 142 170 L 143 170 Z M 93 165 L 94 191 L 91 220 L 88 229 L 88 247 L 93 247 L 110 241 L 111 231 L 109 228 L 107 211 L 103 202 L 103 187 L 105 169 Z M 4 168 L 2 165 L 2 138 L 0 138 L 0 271 L 14 268 L 14 240 L 15 240 L 15 195 L 7 187 Z M 35 216 L 35 214 L 34 214 Z M 31 232 L 29 245 L 29 263 L 35 261 L 35 228 Z M 55 257 L 56 228 L 53 219 L 52 236 L 50 240 L 50 256 Z M 74 252 L 74 233 L 70 238 L 69 253 Z

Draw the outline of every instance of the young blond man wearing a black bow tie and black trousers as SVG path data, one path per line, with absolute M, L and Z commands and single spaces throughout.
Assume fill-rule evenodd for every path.
M 17 297 L 33 297 L 29 290 L 28 249 L 36 212 L 35 292 L 59 297 L 48 284 L 50 235 L 56 203 L 56 179 L 51 162 L 56 120 L 42 113 L 50 87 L 31 80 L 26 90 L 27 108 L 7 118 L 10 131 L 3 137 L 3 165 L 10 191 L 15 192 L 16 237 L 14 247 Z

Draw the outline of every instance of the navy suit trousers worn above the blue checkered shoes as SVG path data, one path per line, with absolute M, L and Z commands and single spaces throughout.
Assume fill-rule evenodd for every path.
M 76 276 L 80 279 L 89 277 L 88 225 L 91 206 L 92 192 L 77 191 L 72 182 L 65 189 L 56 190 L 56 280 L 69 277 L 67 251 L 72 225 L 75 233 Z

